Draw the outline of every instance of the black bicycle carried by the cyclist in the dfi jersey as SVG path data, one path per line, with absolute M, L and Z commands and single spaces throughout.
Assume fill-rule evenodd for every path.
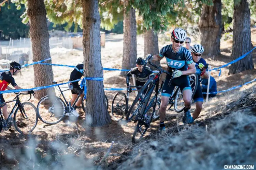
M 145 93 L 145 96 L 143 99 L 141 99 L 141 103 L 140 105 L 136 108 L 138 114 L 136 116 L 136 118 L 134 119 L 134 123 L 137 123 L 136 125 L 136 129 L 134 130 L 133 136 L 132 136 L 132 142 L 135 143 L 137 140 L 141 139 L 144 134 L 146 133 L 148 127 L 150 126 L 150 123 L 153 119 L 153 115 L 155 114 L 156 111 L 156 105 L 157 105 L 157 99 L 159 99 L 158 94 L 159 94 L 159 90 L 158 90 L 158 85 L 159 85 L 159 76 L 160 74 L 166 73 L 172 76 L 172 73 L 169 73 L 165 70 L 163 70 L 161 67 L 156 66 L 155 64 L 151 63 L 149 61 L 149 59 L 152 57 L 152 55 L 148 56 L 148 58 L 145 61 L 144 67 L 146 66 L 146 64 L 150 64 L 153 67 L 157 68 L 159 70 L 158 74 L 155 76 L 155 78 L 151 78 L 149 79 L 144 86 L 141 88 L 141 90 L 139 91 L 139 94 L 137 95 L 136 99 L 133 101 L 133 103 L 136 103 L 137 100 L 139 100 L 140 98 L 140 94 L 142 93 L 143 90 L 145 90 L 147 88 L 147 91 Z M 143 67 L 143 68 L 144 68 Z M 172 70 L 172 72 L 174 72 L 175 70 Z M 168 86 L 171 85 L 173 77 L 171 77 Z M 195 79 L 195 81 L 198 81 L 197 79 Z M 163 84 L 163 83 L 162 83 Z M 161 84 L 161 87 L 162 87 Z M 161 88 L 160 87 L 160 88 Z M 196 87 L 196 86 L 195 86 Z M 155 95 L 151 98 L 152 92 L 155 88 Z M 194 88 L 195 89 L 195 88 Z M 174 93 L 172 94 L 172 96 L 177 96 L 177 91 L 179 90 L 175 90 Z M 192 96 L 195 94 L 195 90 L 192 91 Z M 176 94 L 175 94 L 176 93 Z M 171 99 L 171 98 L 170 98 Z M 150 102 L 149 102 L 150 100 Z M 149 102 L 149 103 L 148 103 Z M 132 107 L 134 105 L 132 105 L 127 113 L 127 115 L 129 115 L 132 112 Z M 150 115 L 150 119 L 149 120 L 144 120 L 145 118 L 145 114 L 148 113 L 147 115 Z

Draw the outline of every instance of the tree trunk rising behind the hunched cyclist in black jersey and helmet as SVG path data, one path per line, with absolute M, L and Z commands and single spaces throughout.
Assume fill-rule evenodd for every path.
M 135 10 L 129 6 L 129 0 L 124 0 L 124 49 L 122 69 L 136 66 L 137 59 L 137 28 Z M 125 76 L 128 71 L 122 71 L 120 75 Z

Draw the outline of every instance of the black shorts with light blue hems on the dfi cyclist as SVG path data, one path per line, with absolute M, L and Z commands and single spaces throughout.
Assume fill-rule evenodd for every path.
M 182 75 L 181 77 L 173 78 L 170 87 L 168 87 L 168 83 L 170 79 L 171 79 L 171 75 L 169 74 L 166 75 L 165 82 L 163 83 L 161 96 L 170 97 L 175 86 L 180 87 L 182 92 L 183 90 L 187 90 L 187 89 L 192 90 L 188 75 Z

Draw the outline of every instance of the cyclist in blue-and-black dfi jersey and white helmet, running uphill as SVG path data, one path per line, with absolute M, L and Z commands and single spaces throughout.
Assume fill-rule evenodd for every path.
M 163 57 L 166 57 L 168 72 L 173 72 L 174 69 L 177 69 L 173 72 L 173 80 L 171 82 L 171 86 L 168 87 L 168 83 L 171 79 L 170 75 L 166 76 L 165 82 L 163 83 L 161 92 L 161 104 L 159 109 L 160 131 L 165 131 L 164 121 L 166 117 L 166 108 L 175 86 L 179 86 L 183 94 L 183 100 L 185 103 L 183 116 L 185 120 L 184 123 L 190 122 L 192 119 L 189 111 L 191 107 L 192 90 L 188 75 L 196 73 L 196 67 L 193 62 L 191 53 L 185 47 L 182 47 L 186 37 L 187 34 L 185 30 L 181 28 L 174 29 L 171 33 L 172 44 L 163 47 L 159 54 L 156 54 L 152 57 L 153 61 L 160 61 L 163 59 Z M 188 66 L 190 69 L 187 70 L 186 66 Z

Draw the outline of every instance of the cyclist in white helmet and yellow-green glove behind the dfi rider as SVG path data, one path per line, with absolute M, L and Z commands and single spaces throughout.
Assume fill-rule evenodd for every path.
M 207 65 L 207 63 L 205 62 L 205 60 L 203 58 L 201 58 L 201 55 L 203 54 L 203 47 L 199 44 L 192 46 L 191 48 L 191 55 L 193 58 L 193 61 L 198 65 L 198 67 L 196 67 L 197 69 L 197 76 L 198 79 L 200 78 L 200 76 L 203 79 L 208 79 L 209 78 L 209 72 L 207 71 L 207 69 L 205 68 L 205 66 Z M 203 71 L 201 71 L 201 69 L 203 69 Z M 193 123 L 194 120 L 199 116 L 199 114 L 201 113 L 202 110 L 202 106 L 203 106 L 203 94 L 202 94 L 202 89 L 200 86 L 200 83 L 198 83 L 197 88 L 196 89 L 196 93 L 193 97 L 194 102 L 196 103 L 196 109 L 193 112 L 193 117 L 191 119 L 190 122 L 188 123 Z

